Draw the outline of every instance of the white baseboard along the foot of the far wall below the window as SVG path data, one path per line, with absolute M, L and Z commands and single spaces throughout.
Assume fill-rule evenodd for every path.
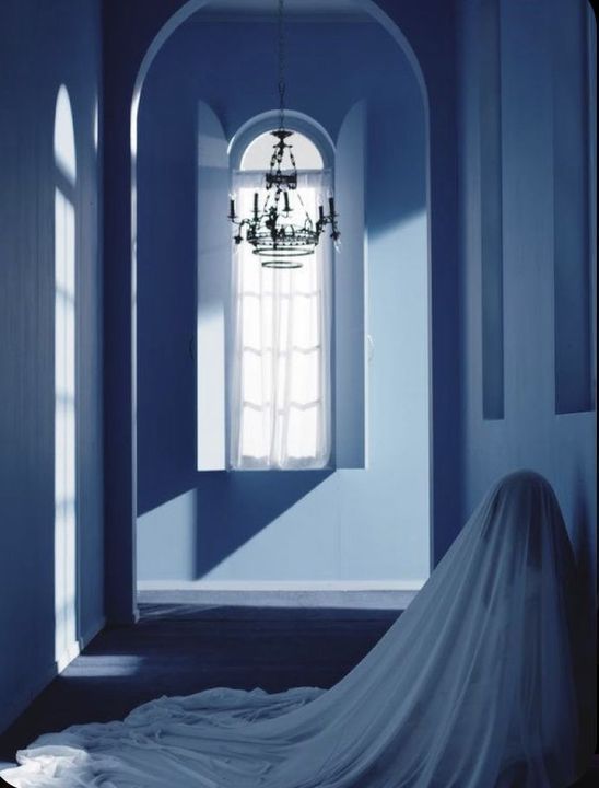
M 420 591 L 418 580 L 139 580 L 138 591 Z

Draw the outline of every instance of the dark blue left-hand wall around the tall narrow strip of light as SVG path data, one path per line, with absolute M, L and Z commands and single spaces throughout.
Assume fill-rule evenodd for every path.
M 0 5 L 0 729 L 55 672 L 54 120 L 77 150 L 78 636 L 102 626 L 102 322 L 96 0 Z

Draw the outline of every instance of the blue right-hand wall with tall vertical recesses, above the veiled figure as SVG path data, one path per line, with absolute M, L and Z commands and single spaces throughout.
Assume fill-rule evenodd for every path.
M 502 474 L 539 471 L 557 493 L 590 583 L 597 522 L 589 179 L 596 173 L 589 132 L 595 20 L 584 0 L 485 0 L 465 2 L 462 22 L 465 514 Z M 482 89 L 493 86 L 490 97 Z M 490 99 L 497 107 L 491 116 Z M 493 147 L 497 136 L 501 144 Z M 498 227 L 490 224 L 489 210 Z M 500 267 L 503 322 L 485 323 L 497 296 L 482 283 L 485 252 Z M 484 341 L 483 326 L 495 340 Z M 502 404 L 492 414 L 483 407 L 489 368 L 504 369 L 488 380 Z M 567 409 L 564 381 L 574 392 Z

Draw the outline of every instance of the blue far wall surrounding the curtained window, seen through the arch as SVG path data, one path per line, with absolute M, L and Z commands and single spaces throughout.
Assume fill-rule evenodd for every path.
M 372 21 L 293 23 L 287 50 L 289 104 L 333 138 L 352 105 L 366 100 L 367 331 L 374 343 L 368 468 L 196 472 L 189 343 L 196 326 L 197 103 L 220 114 L 228 137 L 273 106 L 275 26 L 254 22 L 250 31 L 197 14 L 161 50 L 142 92 L 138 576 L 419 580 L 430 561 L 425 115 L 406 57 Z M 232 40 L 235 56 L 222 58 Z M 309 57 L 304 40 L 310 40 Z M 356 50 L 373 68 L 353 69 Z M 394 76 L 392 89 L 379 73 Z M 324 74 L 326 90 L 315 86 Z

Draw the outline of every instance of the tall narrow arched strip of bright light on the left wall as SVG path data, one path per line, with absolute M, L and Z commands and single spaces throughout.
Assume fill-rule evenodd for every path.
M 61 85 L 55 128 L 55 633 L 59 670 L 77 654 L 75 147 Z

